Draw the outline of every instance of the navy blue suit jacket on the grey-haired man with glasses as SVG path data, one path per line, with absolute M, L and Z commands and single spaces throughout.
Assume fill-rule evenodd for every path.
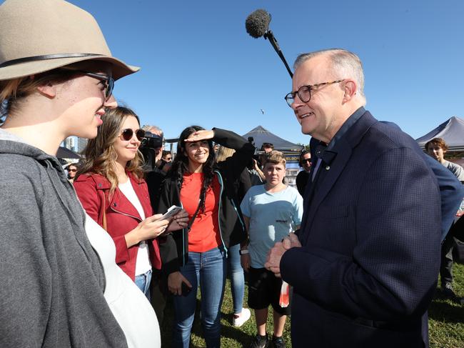
M 281 260 L 293 347 L 426 347 L 440 265 L 437 181 L 418 144 L 368 111 L 334 150 L 316 192 L 308 182 L 303 247 Z

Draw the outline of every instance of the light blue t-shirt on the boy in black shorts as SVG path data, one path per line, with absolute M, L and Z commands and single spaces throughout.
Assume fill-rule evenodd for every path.
M 251 267 L 263 268 L 269 250 L 301 224 L 303 198 L 293 187 L 270 193 L 265 185 L 253 186 L 240 205 L 250 218 Z

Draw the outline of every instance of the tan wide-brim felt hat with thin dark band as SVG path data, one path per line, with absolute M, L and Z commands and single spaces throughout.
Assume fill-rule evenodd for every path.
M 6 0 L 0 6 L 0 80 L 79 61 L 106 61 L 114 79 L 140 68 L 111 55 L 89 12 L 64 0 Z

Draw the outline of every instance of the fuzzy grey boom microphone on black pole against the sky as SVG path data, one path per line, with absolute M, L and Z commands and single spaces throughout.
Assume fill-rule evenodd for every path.
M 281 51 L 281 48 L 278 46 L 277 40 L 274 37 L 274 34 L 269 29 L 269 24 L 271 23 L 271 14 L 268 14 L 268 11 L 264 9 L 257 9 L 256 11 L 252 12 L 245 21 L 245 28 L 246 32 L 253 36 L 255 39 L 258 37 L 264 36 L 264 39 L 268 39 L 271 46 L 273 46 L 274 50 L 277 52 L 278 56 L 283 61 L 283 65 L 285 65 L 288 74 L 290 77 L 293 77 L 293 73 L 291 72 L 290 67 L 287 64 L 285 56 Z

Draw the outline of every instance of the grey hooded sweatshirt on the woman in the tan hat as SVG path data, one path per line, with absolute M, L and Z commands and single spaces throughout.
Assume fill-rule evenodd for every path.
M 0 347 L 127 347 L 84 222 L 59 161 L 0 129 Z

